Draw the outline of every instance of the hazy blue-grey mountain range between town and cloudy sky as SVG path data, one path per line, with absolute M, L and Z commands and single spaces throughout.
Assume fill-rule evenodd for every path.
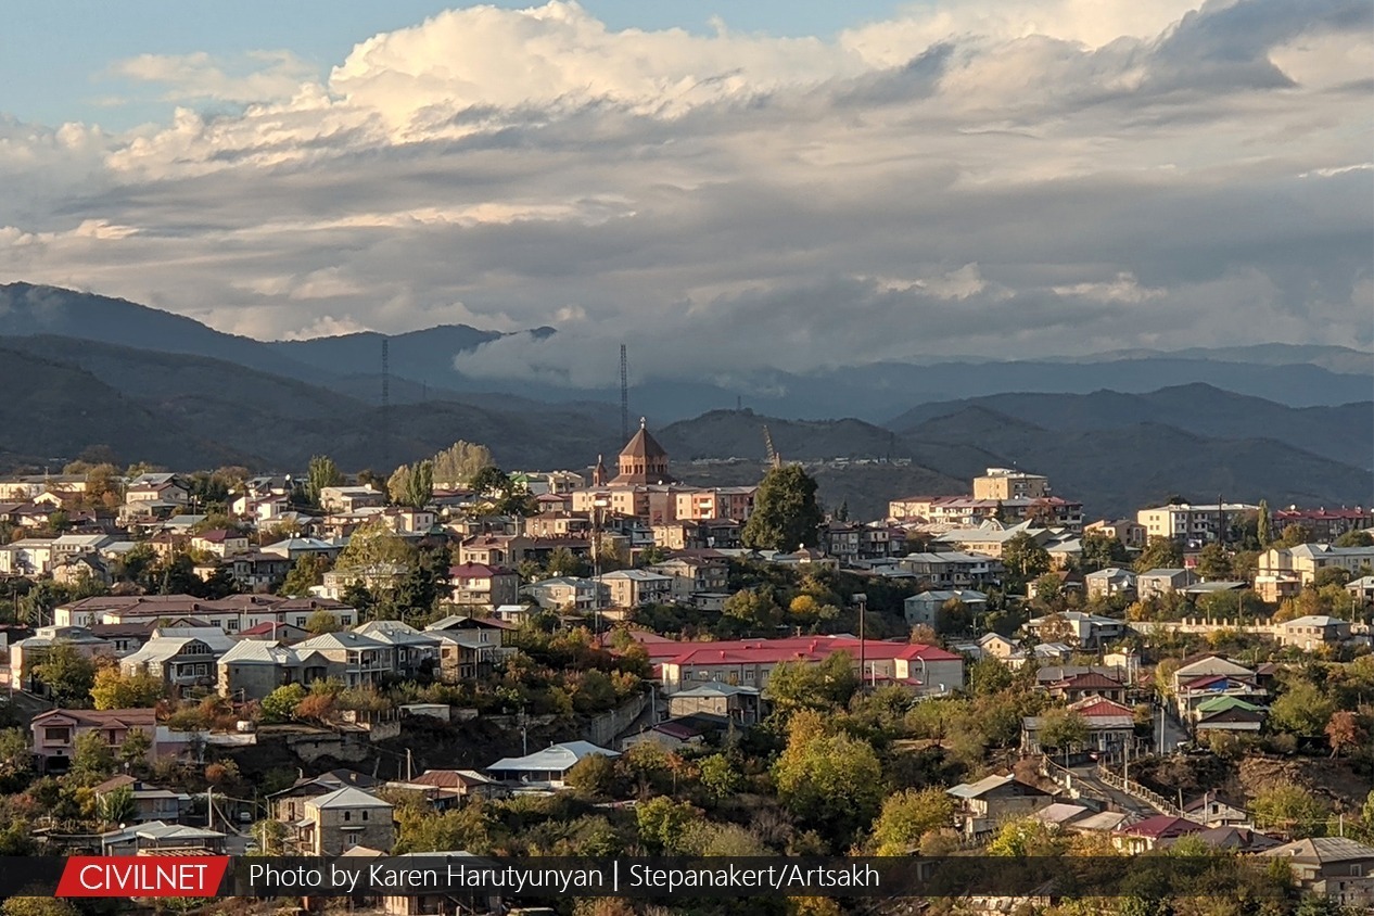
M 453 369 L 456 356 L 497 336 L 447 325 L 385 338 L 383 413 L 379 334 L 261 342 L 122 299 L 0 287 L 0 471 L 51 467 L 95 445 L 121 461 L 297 471 L 317 453 L 386 470 L 459 438 L 485 442 L 507 467 L 583 468 L 618 450 L 618 391 L 511 387 Z M 908 493 L 966 492 L 993 466 L 1048 474 L 1092 515 L 1171 493 L 1369 504 L 1371 376 L 1345 371 L 1366 354 L 1292 347 L 1309 361 L 1289 364 L 1290 350 L 1274 345 L 1242 361 L 1249 350 L 1221 361 L 1127 352 L 760 372 L 774 396 L 749 397 L 756 409 L 735 409 L 734 393 L 702 382 L 651 382 L 629 396 L 679 477 L 756 481 L 767 426 L 785 459 L 818 463 L 827 503 L 846 501 L 855 515 L 878 515 Z M 1224 387 L 1210 380 L 1220 378 Z M 787 415 L 811 419 L 779 419 Z

